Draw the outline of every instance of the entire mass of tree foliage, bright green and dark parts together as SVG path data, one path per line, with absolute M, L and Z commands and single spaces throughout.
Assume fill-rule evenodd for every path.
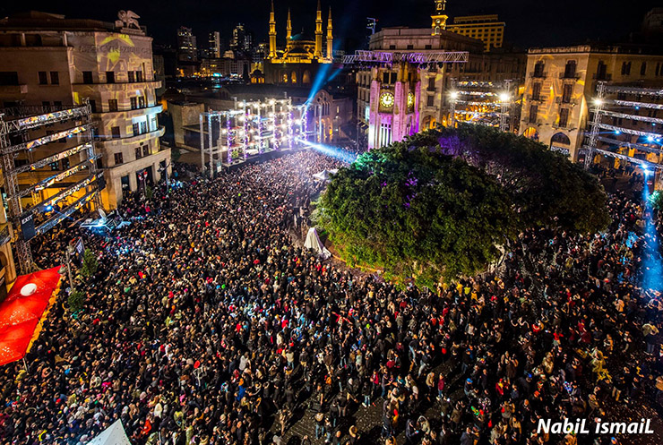
M 467 125 L 341 168 L 318 222 L 350 264 L 432 285 L 484 270 L 528 227 L 600 230 L 606 199 L 593 176 L 541 144 Z

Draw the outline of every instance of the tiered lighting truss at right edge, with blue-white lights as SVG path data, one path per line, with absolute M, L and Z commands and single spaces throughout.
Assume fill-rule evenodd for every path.
M 651 101 L 647 101 L 648 98 Z M 581 149 L 585 153 L 585 167 L 590 167 L 594 155 L 600 154 L 651 171 L 663 169 L 663 165 L 657 162 L 620 152 L 625 149 L 627 153 L 631 150 L 639 151 L 644 157 L 648 153 L 663 155 L 663 119 L 654 117 L 655 115 L 650 116 L 651 110 L 663 109 L 663 104 L 657 103 L 660 98 L 663 98 L 661 89 L 625 87 L 598 82 L 597 96 L 592 101 L 593 107 L 590 109 L 593 118 L 588 142 Z M 641 110 L 644 116 L 641 116 Z M 632 126 L 619 124 L 624 121 L 632 123 Z M 633 141 L 634 137 L 637 137 L 636 141 Z M 661 176 L 659 181 L 663 179 L 663 175 Z

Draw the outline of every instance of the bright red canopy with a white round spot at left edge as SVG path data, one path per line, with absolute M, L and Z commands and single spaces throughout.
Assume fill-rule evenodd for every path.
M 22 359 L 39 337 L 41 323 L 56 300 L 60 267 L 16 278 L 0 304 L 0 365 Z

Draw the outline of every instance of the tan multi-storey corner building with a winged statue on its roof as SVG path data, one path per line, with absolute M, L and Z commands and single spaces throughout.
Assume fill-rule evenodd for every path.
M 170 150 L 159 144 L 152 39 L 129 14 L 120 17 L 111 23 L 32 12 L 0 20 L 0 72 L 16 85 L 0 88 L 0 105 L 60 107 L 88 98 L 107 209 L 170 168 Z

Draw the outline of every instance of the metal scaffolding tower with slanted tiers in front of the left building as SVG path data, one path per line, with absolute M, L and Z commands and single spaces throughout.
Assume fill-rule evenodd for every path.
M 56 133 L 46 130 L 54 124 L 59 127 Z M 99 155 L 94 149 L 92 127 L 87 100 L 82 106 L 65 108 L 11 107 L 0 110 L 4 191 L 22 274 L 33 270 L 30 252 L 32 237 L 46 233 L 90 201 L 95 203 L 96 208 L 101 208 L 99 191 L 105 187 L 105 180 L 103 172 L 97 169 Z M 64 143 L 69 146 L 69 140 L 75 140 L 75 146 L 58 150 L 58 146 L 54 145 Z M 47 156 L 34 159 L 41 154 Z M 80 162 L 69 167 L 69 158 L 73 156 Z M 59 162 L 63 159 L 67 160 L 66 167 L 59 171 Z M 44 176 L 47 172 L 39 169 L 54 163 L 58 163 L 58 173 L 34 178 L 33 175 L 38 172 Z M 86 175 L 81 178 L 81 174 Z M 61 184 L 72 175 L 78 175 L 76 183 Z M 41 193 L 47 188 L 56 188 L 57 192 L 50 195 Z M 30 199 L 30 207 L 24 209 L 22 200 L 26 199 Z M 59 211 L 54 210 L 58 205 L 62 206 Z

